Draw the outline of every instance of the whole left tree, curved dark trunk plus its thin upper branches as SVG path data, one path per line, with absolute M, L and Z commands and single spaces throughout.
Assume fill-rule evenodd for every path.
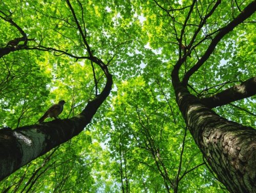
M 92 66 L 93 64 L 97 64 L 104 73 L 106 83 L 101 93 L 97 93 L 97 82 L 95 82 L 96 86 L 96 94 L 95 99 L 88 102 L 87 106 L 82 110 L 82 112 L 69 119 L 62 120 L 54 120 L 51 123 L 45 123 L 40 125 L 31 125 L 16 128 L 15 130 L 11 130 L 9 128 L 5 128 L 1 130 L 1 179 L 11 174 L 19 167 L 24 164 L 30 162 L 34 158 L 45 154 L 50 151 L 54 147 L 57 147 L 59 144 L 68 141 L 73 136 L 79 134 L 84 127 L 86 127 L 93 115 L 96 113 L 99 106 L 103 103 L 106 97 L 109 95 L 112 88 L 112 75 L 108 71 L 108 67 L 104 64 L 100 59 L 95 57 L 91 51 L 91 48 L 87 42 L 87 32 L 86 28 L 82 29 L 81 24 L 79 23 L 76 13 L 69 1 L 67 1 L 67 5 L 73 15 L 74 24 L 76 25 L 79 35 L 81 36 L 81 42 L 84 44 L 84 48 L 88 53 L 88 56 L 75 56 L 69 54 L 64 51 L 57 51 L 56 49 L 51 49 L 45 46 L 27 46 L 27 36 L 25 32 L 10 18 L 12 16 L 12 12 L 10 15 L 5 14 L 1 11 L 4 16 L 1 16 L 4 20 L 10 22 L 13 26 L 15 26 L 20 33 L 23 34 L 23 38 L 17 40 L 14 44 L 8 43 L 6 47 L 2 48 L 0 56 L 3 57 L 10 52 L 26 49 L 26 50 L 41 50 L 41 51 L 50 51 L 54 50 L 60 52 L 62 54 L 66 54 L 75 59 L 88 59 L 90 60 Z M 83 10 L 82 5 L 81 10 Z M 82 12 L 83 14 L 83 12 Z M 68 22 L 67 22 L 68 23 Z M 70 24 L 71 25 L 71 24 Z M 25 41 L 23 45 L 18 45 L 20 41 Z M 11 40 L 13 41 L 13 40 Z M 9 41 L 10 42 L 10 41 Z M 17 47 L 15 47 L 17 46 Z M 109 61 L 110 62 L 110 61 Z M 8 68 L 8 67 L 7 67 Z M 11 74 L 9 68 L 8 73 Z M 9 77 L 7 75 L 7 78 Z M 96 80 L 96 77 L 94 75 Z

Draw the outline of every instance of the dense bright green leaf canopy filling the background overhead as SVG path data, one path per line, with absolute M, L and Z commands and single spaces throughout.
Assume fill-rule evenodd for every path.
M 205 23 L 218 1 L 194 1 L 189 18 L 193 1 L 70 1 L 90 51 L 67 2 L 0 2 L 0 47 L 27 35 L 0 58 L 1 128 L 35 124 L 59 100 L 67 102 L 60 118 L 80 113 L 105 84 L 102 69 L 87 60 L 90 52 L 108 65 L 113 89 L 83 132 L 1 181 L 0 189 L 166 192 L 179 183 L 179 192 L 227 192 L 186 128 L 170 74 L 184 54 L 181 35 L 191 51 L 183 77 L 251 1 L 223 1 Z M 222 38 L 190 77 L 191 93 L 211 96 L 255 76 L 253 21 L 255 14 Z M 255 96 L 214 111 L 253 127 Z

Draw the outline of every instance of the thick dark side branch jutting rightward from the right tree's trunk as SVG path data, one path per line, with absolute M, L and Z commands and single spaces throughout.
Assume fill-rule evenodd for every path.
M 256 94 L 256 77 L 253 77 L 239 85 L 228 88 L 208 98 L 202 98 L 201 102 L 211 109 L 245 99 L 254 94 Z

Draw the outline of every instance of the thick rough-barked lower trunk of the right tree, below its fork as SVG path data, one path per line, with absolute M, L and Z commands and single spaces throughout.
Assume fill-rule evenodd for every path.
M 218 179 L 231 192 L 255 192 L 256 130 L 220 117 L 175 76 L 173 86 L 188 129 Z

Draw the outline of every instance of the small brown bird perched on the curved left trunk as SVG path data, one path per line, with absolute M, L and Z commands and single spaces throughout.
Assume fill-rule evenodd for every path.
M 39 123 L 42 123 L 44 122 L 44 120 L 47 118 L 47 117 L 54 117 L 55 119 L 58 118 L 58 115 L 63 111 L 63 105 L 65 104 L 66 102 L 61 100 L 59 101 L 58 104 L 54 104 L 53 106 L 51 106 L 44 115 L 42 115 L 41 118 L 39 118 L 38 122 Z

